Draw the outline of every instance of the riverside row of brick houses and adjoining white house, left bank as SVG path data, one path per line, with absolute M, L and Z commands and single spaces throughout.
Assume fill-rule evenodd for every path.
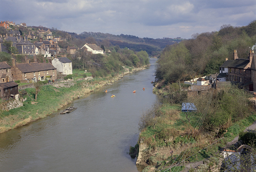
M 8 99 L 14 96 L 13 91 L 18 90 L 18 84 L 14 81 L 20 82 L 38 82 L 44 80 L 56 80 L 58 75 L 72 74 L 72 61 L 66 57 L 49 59 L 49 63 L 38 63 L 36 56 L 34 62 L 26 56 L 26 63 L 16 63 L 12 60 L 12 66 L 7 62 L 0 62 L 0 98 Z M 17 88 L 14 88 L 16 87 Z

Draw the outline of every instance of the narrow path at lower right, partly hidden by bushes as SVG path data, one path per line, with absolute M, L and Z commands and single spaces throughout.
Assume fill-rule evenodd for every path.
M 255 130 L 256 130 L 256 121 L 252 125 L 248 126 L 244 130 L 244 132 L 252 132 L 252 131 L 255 131 Z M 238 136 L 236 136 L 234 138 L 234 140 L 232 140 L 231 142 L 228 142 L 227 145 L 226 145 L 226 148 L 228 148 L 232 144 L 235 144 L 236 142 L 238 142 Z M 203 164 L 203 161 L 187 163 L 187 164 L 185 164 L 185 169 L 182 172 L 188 172 L 188 170 L 190 168 L 196 168 L 196 167 L 200 166 L 201 164 Z

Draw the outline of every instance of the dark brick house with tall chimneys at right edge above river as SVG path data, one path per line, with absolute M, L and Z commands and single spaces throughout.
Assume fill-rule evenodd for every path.
M 240 83 L 245 90 L 255 91 L 252 82 L 252 61 L 256 58 L 254 52 L 250 50 L 247 59 L 238 58 L 237 51 L 234 50 L 234 60 L 227 60 L 220 66 L 220 73 L 227 73 L 226 81 Z

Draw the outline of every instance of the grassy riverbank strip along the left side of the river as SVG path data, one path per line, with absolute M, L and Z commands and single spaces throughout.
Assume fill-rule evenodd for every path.
M 114 78 L 109 76 L 107 78 L 77 81 L 74 82 L 74 86 L 70 84 L 69 87 L 55 88 L 52 85 L 44 85 L 40 88 L 37 101 L 34 100 L 35 89 L 27 88 L 27 100 L 24 102 L 24 106 L 8 112 L 0 112 L 0 133 L 26 125 L 40 118 L 45 118 L 71 103 L 78 96 L 82 97 L 102 86 L 120 80 L 125 74 L 144 70 L 146 67 L 125 70 L 123 74 Z

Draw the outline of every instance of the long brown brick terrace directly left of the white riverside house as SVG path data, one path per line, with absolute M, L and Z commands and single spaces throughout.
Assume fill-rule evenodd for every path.
M 36 56 L 34 56 L 36 58 Z M 16 64 L 15 60 L 12 60 L 12 78 L 14 80 L 37 82 L 44 80 L 56 80 L 57 70 L 50 63 L 38 63 L 36 59 L 34 62 L 30 62 L 26 58 L 26 63 Z

